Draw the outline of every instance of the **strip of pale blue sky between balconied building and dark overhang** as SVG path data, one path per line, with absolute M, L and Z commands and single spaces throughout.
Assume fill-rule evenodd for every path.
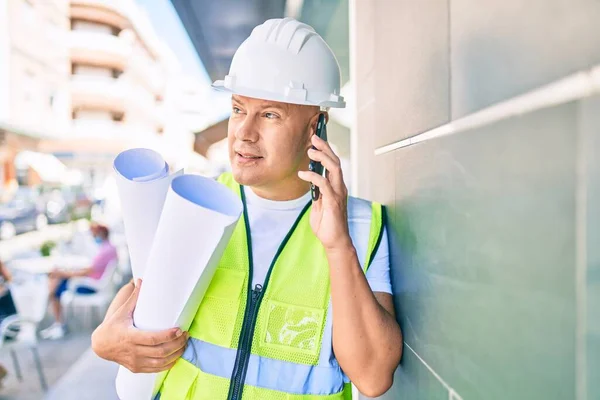
M 192 44 L 175 8 L 170 0 L 136 0 L 148 12 L 150 21 L 159 37 L 173 50 L 183 72 L 192 75 L 200 82 L 210 82 L 206 69 Z

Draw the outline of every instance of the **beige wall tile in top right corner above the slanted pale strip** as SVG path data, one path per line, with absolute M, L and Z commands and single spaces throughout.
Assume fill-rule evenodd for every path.
M 452 0 L 452 118 L 600 62 L 596 0 Z

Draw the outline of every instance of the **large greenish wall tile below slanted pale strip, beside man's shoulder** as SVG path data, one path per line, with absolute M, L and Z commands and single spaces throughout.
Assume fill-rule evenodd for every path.
M 405 340 L 465 399 L 574 396 L 576 128 L 566 104 L 397 152 Z

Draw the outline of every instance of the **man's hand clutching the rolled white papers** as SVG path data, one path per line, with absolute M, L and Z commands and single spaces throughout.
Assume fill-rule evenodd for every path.
M 131 372 L 165 371 L 183 354 L 188 334 L 179 328 L 149 332 L 134 327 L 133 310 L 140 286 L 138 281 L 129 298 L 96 328 L 92 334 L 92 349 L 98 356 Z

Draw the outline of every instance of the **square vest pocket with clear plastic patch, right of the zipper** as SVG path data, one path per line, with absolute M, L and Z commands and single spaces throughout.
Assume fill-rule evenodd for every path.
M 297 362 L 314 364 L 321 348 L 324 320 L 323 309 L 269 300 L 261 346 L 296 353 L 301 359 Z

